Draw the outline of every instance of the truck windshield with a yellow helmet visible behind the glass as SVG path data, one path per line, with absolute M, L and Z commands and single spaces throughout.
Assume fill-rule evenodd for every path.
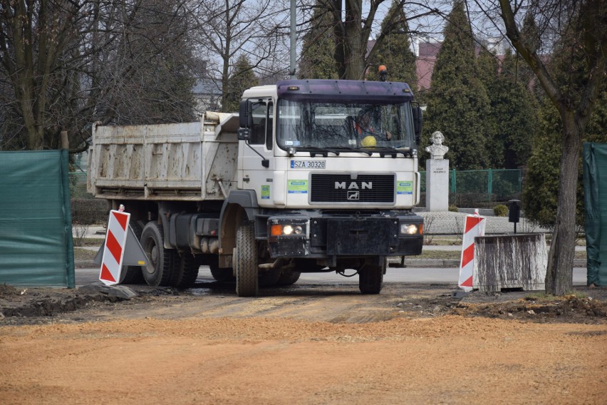
M 315 103 L 280 99 L 279 148 L 414 148 L 410 103 Z

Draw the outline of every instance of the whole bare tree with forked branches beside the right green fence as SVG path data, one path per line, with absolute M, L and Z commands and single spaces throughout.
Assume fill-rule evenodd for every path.
M 572 288 L 582 136 L 607 74 L 607 4 L 603 0 L 475 3 L 486 11 L 497 28 L 505 27 L 508 39 L 559 111 L 562 125 L 559 197 L 546 292 L 563 295 Z M 523 30 L 524 19 L 535 24 L 536 29 Z M 566 74 L 559 74 L 556 63 L 549 62 L 557 55 L 569 59 Z

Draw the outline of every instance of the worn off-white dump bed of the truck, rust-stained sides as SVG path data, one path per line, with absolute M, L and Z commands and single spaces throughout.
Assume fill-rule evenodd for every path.
M 224 200 L 237 185 L 238 116 L 192 123 L 93 125 L 88 192 L 123 200 Z

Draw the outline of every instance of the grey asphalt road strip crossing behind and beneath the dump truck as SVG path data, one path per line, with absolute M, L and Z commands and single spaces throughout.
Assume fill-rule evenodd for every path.
M 353 271 L 350 273 L 352 274 Z M 460 275 L 458 268 L 452 267 L 389 267 L 384 276 L 384 283 L 411 282 L 421 284 L 457 284 Z M 98 268 L 76 269 L 76 285 L 81 286 L 97 281 L 99 278 Z M 209 267 L 201 266 L 197 282 L 212 282 L 213 277 Z M 343 277 L 334 272 L 327 273 L 304 273 L 295 284 L 358 284 L 358 276 Z M 574 285 L 586 285 L 586 267 L 574 267 Z

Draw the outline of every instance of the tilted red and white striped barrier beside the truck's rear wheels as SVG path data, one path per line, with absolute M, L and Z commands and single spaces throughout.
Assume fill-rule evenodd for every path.
M 129 219 L 130 214 L 128 212 L 110 211 L 108 232 L 105 235 L 105 246 L 103 247 L 99 274 L 99 280 L 105 285 L 120 282 L 120 270 L 123 268 Z

